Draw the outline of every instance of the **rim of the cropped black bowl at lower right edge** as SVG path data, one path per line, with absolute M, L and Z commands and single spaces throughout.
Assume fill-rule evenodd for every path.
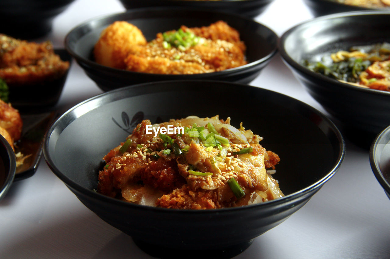
M 385 141 L 385 139 L 388 138 L 388 141 L 386 143 L 382 143 Z M 381 131 L 374 141 L 371 144 L 370 151 L 369 151 L 369 158 L 370 158 L 370 165 L 372 172 L 374 173 L 376 179 L 378 180 L 379 184 L 382 186 L 382 188 L 386 191 L 388 195 L 390 195 L 390 182 L 385 179 L 383 176 L 383 173 L 381 172 L 379 160 L 380 157 L 377 157 L 377 152 L 379 150 L 379 145 L 390 145 L 390 126 L 386 127 Z M 383 151 L 383 150 L 381 150 Z

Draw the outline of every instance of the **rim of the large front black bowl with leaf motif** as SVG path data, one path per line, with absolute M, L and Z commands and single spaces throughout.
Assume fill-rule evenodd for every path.
M 108 197 L 108 196 L 105 196 L 103 194 L 100 194 L 100 193 L 97 193 L 93 190 L 90 190 L 90 189 L 87 189 L 79 184 L 76 184 L 73 180 L 71 180 L 70 178 L 66 177 L 63 173 L 60 172 L 60 170 L 57 168 L 57 166 L 55 166 L 55 163 L 53 162 L 53 159 L 51 159 L 51 156 L 48 152 L 49 150 L 49 141 L 50 141 L 50 136 L 51 134 L 53 133 L 54 129 L 56 128 L 58 122 L 66 117 L 68 117 L 67 115 L 69 113 L 71 113 L 73 110 L 75 110 L 76 108 L 78 107 L 81 107 L 82 105 L 85 105 L 86 103 L 90 102 L 90 101 L 94 101 L 94 100 L 99 100 L 101 98 L 103 98 L 104 96 L 108 95 L 108 94 L 112 94 L 112 93 L 115 93 L 117 91 L 127 91 L 127 90 L 130 90 L 133 91 L 133 93 L 136 93 L 134 96 L 137 96 L 138 95 L 138 91 L 137 89 L 142 89 L 142 88 L 145 88 L 145 87 L 148 87 L 148 86 L 151 86 L 151 85 L 155 85 L 155 84 L 176 84 L 176 83 L 180 83 L 180 82 L 199 82 L 199 83 L 205 83 L 205 82 L 209 82 L 209 83 L 219 83 L 219 84 L 229 84 L 229 85 L 234 85 L 234 86 L 238 86 L 238 87 L 248 87 L 248 88 L 260 88 L 260 87 L 255 87 L 255 86 L 250 86 L 250 85 L 246 85 L 246 84 L 239 84 L 239 83 L 234 83 L 234 82 L 223 82 L 223 81 L 217 81 L 217 80 L 167 80 L 167 81 L 159 81 L 159 82 L 148 82 L 148 83 L 142 83 L 142 84 L 136 84 L 136 85 L 133 85 L 133 86 L 127 86 L 127 87 L 122 87 L 122 88 L 117 88 L 117 89 L 113 89 L 111 91 L 107 91 L 107 92 L 104 92 L 104 93 L 101 93 L 101 94 L 98 94 L 94 97 L 91 97 L 85 101 L 82 101 L 80 103 L 78 103 L 77 105 L 75 105 L 74 107 L 70 108 L 69 110 L 67 110 L 66 112 L 64 112 L 64 114 L 62 114 L 60 117 L 58 117 L 50 126 L 50 128 L 48 129 L 48 131 L 46 131 L 46 134 L 44 136 L 44 139 L 43 139 L 43 154 L 44 154 L 44 158 L 46 160 L 46 163 L 47 165 L 49 166 L 49 168 L 53 171 L 53 173 L 55 175 L 57 175 L 57 177 L 62 180 L 62 182 L 64 182 L 66 184 L 66 186 L 69 188 L 69 189 L 74 189 L 76 191 L 78 191 L 79 193 L 82 193 L 83 195 L 86 195 L 86 196 L 89 196 L 89 197 L 93 197 L 93 198 L 97 198 L 99 199 L 100 201 L 103 201 L 103 202 L 108 202 L 108 203 L 112 203 L 112 204 L 117 204 L 119 206 L 129 206 L 129 207 L 134 207 L 134 208 L 139 208 L 139 209 L 142 209 L 142 210 L 152 210 L 154 212 L 162 212 L 162 213 L 172 213 L 172 212 L 175 212 L 175 213 L 183 213 L 183 214 L 188 214 L 188 213 L 197 213 L 197 214 L 209 214 L 209 213 L 213 213 L 213 214 L 218 214 L 219 212 L 236 212 L 236 211 L 241 211 L 241 210 L 251 210 L 251 209 L 255 209 L 255 208 L 258 208 L 258 207 L 273 207 L 273 206 L 278 206 L 278 205 L 281 205 L 287 201 L 292 201 L 292 200 L 296 200 L 297 198 L 300 198 L 301 196 L 305 196 L 309 193 L 311 193 L 312 191 L 316 190 L 317 191 L 319 190 L 320 187 L 323 186 L 323 184 L 325 182 L 327 182 L 336 172 L 337 170 L 339 170 L 339 167 L 344 159 L 344 156 L 345 156 L 345 152 L 346 152 L 346 147 L 345 147 L 345 142 L 344 142 L 344 138 L 342 137 L 339 129 L 337 128 L 337 126 L 330 120 L 328 119 L 328 117 L 326 117 L 326 115 L 322 114 L 319 110 L 317 110 L 316 108 L 314 107 L 311 107 L 310 105 L 308 105 L 307 103 L 304 103 L 303 101 L 300 101 L 298 99 L 295 99 L 291 96 L 287 96 L 285 94 L 281 94 L 281 93 L 278 93 L 278 92 L 275 92 L 275 91 L 271 91 L 271 90 L 268 90 L 268 89 L 264 89 L 264 88 L 260 88 L 261 91 L 266 91 L 266 92 L 271 92 L 273 94 L 280 94 L 282 96 L 285 96 L 287 98 L 291 98 L 293 99 L 296 103 L 299 103 L 300 105 L 302 105 L 303 107 L 305 107 L 306 109 L 308 109 L 309 111 L 311 112 L 314 112 L 316 113 L 317 115 L 319 115 L 321 117 L 321 119 L 323 119 L 324 122 L 326 122 L 328 124 L 328 126 L 333 129 L 336 137 L 337 137 L 337 140 L 339 142 L 339 149 L 340 149 L 340 152 L 337 156 L 337 163 L 335 165 L 333 165 L 333 168 L 331 168 L 329 170 L 328 173 L 326 173 L 326 175 L 324 175 L 324 177 L 322 177 L 321 179 L 317 180 L 316 182 L 310 184 L 310 186 L 307 186 L 303 189 L 300 189 L 299 191 L 296 191 L 294 193 L 291 193 L 291 194 L 288 194 L 282 198 L 278 198 L 278 199 L 275 199 L 275 200 L 271 200 L 271 201 L 266 201 L 266 202 L 263 202 L 263 203 L 257 203 L 257 204 L 254 204 L 254 205 L 246 205 L 246 206 L 243 206 L 243 207 L 230 207 L 230 208 L 218 208 L 218 209 L 215 209 L 215 210 L 192 210 L 192 209 L 172 209 L 172 208 L 159 208 L 159 207 L 149 207 L 149 206 L 145 206 L 145 205 L 138 205 L 138 204 L 133 204 L 133 203 L 129 203 L 129 202 L 126 202 L 126 201 L 122 201 L 122 200 L 118 200 L 118 199 L 115 199 L 115 198 L 111 198 L 111 197 Z M 105 104 L 106 102 L 101 102 L 99 101 L 98 102 L 99 105 L 102 105 L 102 104 Z M 77 118 L 78 117 L 81 117 L 82 115 L 88 113 L 90 111 L 90 109 L 84 109 L 84 112 L 81 114 L 77 114 Z M 76 119 L 77 119 L 76 118 Z M 69 120 L 69 118 L 67 118 Z M 69 121 L 69 123 L 72 122 L 72 121 Z

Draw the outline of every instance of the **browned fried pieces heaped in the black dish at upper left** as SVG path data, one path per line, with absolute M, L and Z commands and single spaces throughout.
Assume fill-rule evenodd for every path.
M 69 62 L 54 53 L 50 42 L 38 44 L 0 34 L 0 78 L 9 86 L 55 80 L 68 68 Z

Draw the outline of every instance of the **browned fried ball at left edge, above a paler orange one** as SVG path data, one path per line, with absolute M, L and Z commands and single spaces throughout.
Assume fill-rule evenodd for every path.
M 0 100 L 0 127 L 8 131 L 12 143 L 20 139 L 23 122 L 18 110 Z M 4 135 L 3 135 L 4 137 Z

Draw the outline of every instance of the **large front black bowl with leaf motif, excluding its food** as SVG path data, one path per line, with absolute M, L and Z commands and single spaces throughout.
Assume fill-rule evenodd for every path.
M 218 98 L 196 101 L 204 93 Z M 227 108 L 227 102 L 237 100 L 235 93 L 245 97 Z M 242 121 L 264 137 L 264 147 L 279 154 L 275 178 L 284 198 L 238 208 L 177 210 L 130 204 L 92 191 L 104 166 L 101 158 L 140 120 L 216 114 L 230 116 L 236 127 Z M 244 84 L 184 80 L 123 87 L 76 105 L 48 130 L 43 152 L 51 170 L 85 206 L 146 252 L 172 258 L 176 252 L 191 257 L 206 250 L 203 256 L 220 258 L 242 252 L 256 236 L 301 208 L 338 170 L 344 141 L 324 115 L 289 96 Z

